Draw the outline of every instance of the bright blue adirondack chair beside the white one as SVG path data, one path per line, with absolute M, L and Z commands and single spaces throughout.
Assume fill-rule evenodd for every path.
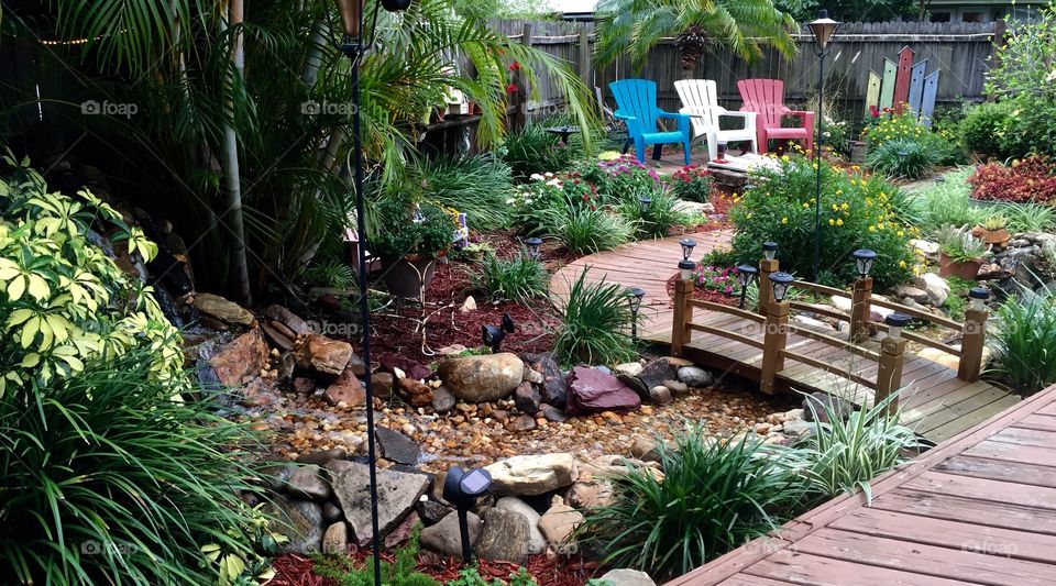
M 657 82 L 648 79 L 622 79 L 608 85 L 616 98 L 615 118 L 627 124 L 627 143 L 635 145 L 635 156 L 639 163 L 646 162 L 646 147 L 656 145 L 652 158 L 660 158 L 663 144 L 682 143 L 685 164 L 690 164 L 690 115 L 664 112 L 657 107 Z M 662 132 L 657 129 L 658 118 L 670 118 L 679 122 L 679 130 Z M 624 152 L 627 152 L 626 146 Z

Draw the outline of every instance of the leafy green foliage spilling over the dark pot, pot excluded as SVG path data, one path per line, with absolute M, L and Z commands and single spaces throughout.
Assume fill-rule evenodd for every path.
M 404 195 L 391 195 L 375 204 L 377 221 L 385 226 L 371 241 L 372 252 L 402 258 L 444 254 L 459 229 L 457 215 L 437 203 L 415 203 Z

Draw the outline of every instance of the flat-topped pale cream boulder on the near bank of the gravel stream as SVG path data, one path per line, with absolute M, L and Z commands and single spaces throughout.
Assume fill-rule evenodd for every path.
M 496 495 L 542 495 L 571 485 L 579 477 L 575 458 L 569 453 L 514 456 L 485 468 L 492 475 Z

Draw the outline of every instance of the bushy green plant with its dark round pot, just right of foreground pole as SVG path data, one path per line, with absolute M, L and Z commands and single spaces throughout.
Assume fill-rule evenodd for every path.
M 377 233 L 371 247 L 382 258 L 382 278 L 389 292 L 418 299 L 432 281 L 437 258 L 446 255 L 459 224 L 431 202 L 389 196 L 377 203 Z

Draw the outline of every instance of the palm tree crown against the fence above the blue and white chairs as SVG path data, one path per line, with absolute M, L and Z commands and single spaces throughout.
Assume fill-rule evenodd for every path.
M 795 23 L 773 0 L 602 0 L 596 20 L 598 63 L 629 55 L 641 67 L 654 46 L 674 37 L 685 77 L 712 46 L 748 62 L 762 57 L 763 46 L 785 56 L 796 51 L 790 34 Z

